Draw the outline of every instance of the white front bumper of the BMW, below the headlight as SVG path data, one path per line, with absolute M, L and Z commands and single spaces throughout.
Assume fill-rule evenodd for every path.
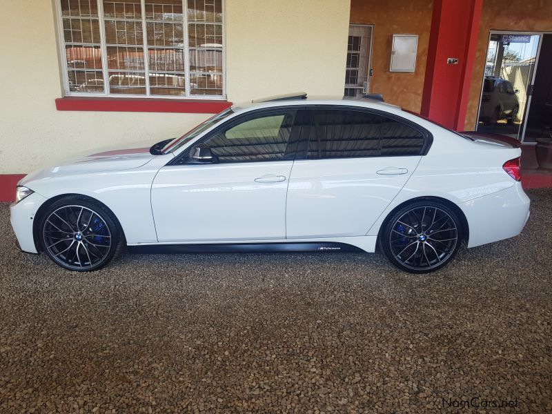
M 17 244 L 24 252 L 38 253 L 37 246 L 34 246 L 32 224 L 34 216 L 37 215 L 37 211 L 44 201 L 46 201 L 46 197 L 32 193 L 17 204 L 10 204 L 12 228 L 17 237 Z

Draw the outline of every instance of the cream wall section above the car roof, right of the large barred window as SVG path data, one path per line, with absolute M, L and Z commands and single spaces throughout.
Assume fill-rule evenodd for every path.
M 228 99 L 343 96 L 350 0 L 226 0 Z

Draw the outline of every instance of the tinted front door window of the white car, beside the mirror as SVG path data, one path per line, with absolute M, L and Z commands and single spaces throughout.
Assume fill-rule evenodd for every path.
M 218 162 L 279 161 L 284 159 L 295 111 L 272 111 L 247 117 L 207 139 Z

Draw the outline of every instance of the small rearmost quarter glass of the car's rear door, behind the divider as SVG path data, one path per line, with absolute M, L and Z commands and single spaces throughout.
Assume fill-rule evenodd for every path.
M 380 145 L 382 157 L 421 155 L 424 148 L 424 135 L 403 122 L 383 117 Z

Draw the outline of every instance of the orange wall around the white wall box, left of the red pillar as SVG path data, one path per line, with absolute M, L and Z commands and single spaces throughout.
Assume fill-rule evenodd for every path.
M 351 0 L 351 23 L 374 25 L 370 92 L 386 102 L 420 112 L 433 0 Z M 393 34 L 417 34 L 414 72 L 389 72 Z

